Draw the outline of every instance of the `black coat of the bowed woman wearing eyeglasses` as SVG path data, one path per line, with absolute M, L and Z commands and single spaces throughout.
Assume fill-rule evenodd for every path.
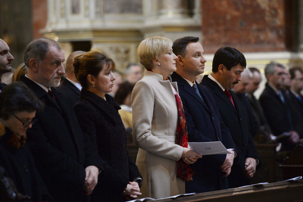
M 7 144 L 11 134 L 6 128 L 6 133 L 0 137 L 0 166 L 5 168 L 17 190 L 31 197 L 30 201 L 53 201 L 34 165 L 28 145 L 16 149 Z

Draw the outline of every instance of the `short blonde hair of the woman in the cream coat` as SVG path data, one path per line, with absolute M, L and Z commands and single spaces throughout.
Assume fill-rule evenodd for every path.
M 153 59 L 159 59 L 170 51 L 172 41 L 163 36 L 152 36 L 144 39 L 138 46 L 139 62 L 147 69 L 152 70 Z

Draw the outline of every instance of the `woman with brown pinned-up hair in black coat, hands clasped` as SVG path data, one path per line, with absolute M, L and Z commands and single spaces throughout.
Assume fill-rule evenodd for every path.
M 82 85 L 76 102 L 79 125 L 99 152 L 104 172 L 92 195 L 92 201 L 125 201 L 141 195 L 142 178 L 126 149 L 126 130 L 118 113 L 119 105 L 107 95 L 115 77 L 114 62 L 97 51 L 75 57 L 74 72 Z

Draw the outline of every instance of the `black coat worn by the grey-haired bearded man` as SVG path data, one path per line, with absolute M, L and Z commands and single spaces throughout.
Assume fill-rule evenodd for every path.
M 34 81 L 20 78 L 44 102 L 37 123 L 27 132 L 36 167 L 55 201 L 88 201 L 82 194 L 85 168 L 101 162 L 88 136 L 83 134 L 73 108 L 55 88 L 56 101 Z

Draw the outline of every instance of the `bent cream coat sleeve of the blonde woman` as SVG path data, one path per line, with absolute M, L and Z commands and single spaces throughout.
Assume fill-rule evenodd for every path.
M 159 138 L 151 132 L 155 104 L 153 90 L 157 89 L 152 89 L 151 85 L 141 80 L 136 83 L 132 92 L 135 144 L 149 153 L 178 161 L 181 158 L 183 147 Z M 161 118 L 160 114 L 157 116 Z

